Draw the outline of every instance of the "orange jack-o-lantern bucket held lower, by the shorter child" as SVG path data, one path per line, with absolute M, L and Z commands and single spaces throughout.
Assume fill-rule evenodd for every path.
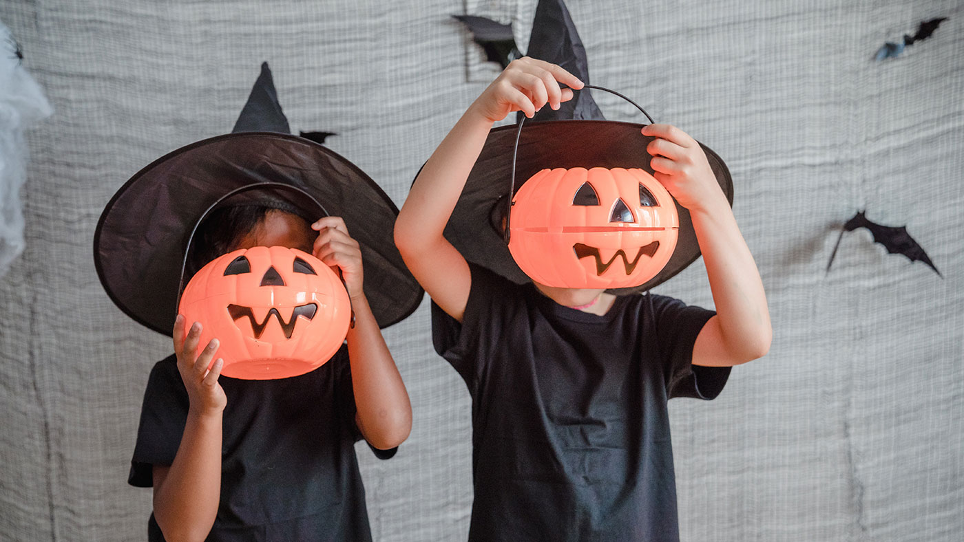
M 254 246 L 211 261 L 184 289 L 179 311 L 186 325 L 202 325 L 199 354 L 217 338 L 221 373 L 248 379 L 320 367 L 341 347 L 352 312 L 335 271 L 284 246 Z

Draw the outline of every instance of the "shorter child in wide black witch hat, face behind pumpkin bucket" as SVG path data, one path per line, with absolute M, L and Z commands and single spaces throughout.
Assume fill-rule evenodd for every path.
M 379 330 L 421 298 L 390 243 L 396 215 L 359 168 L 288 134 L 267 64 L 234 133 L 160 158 L 108 203 L 94 238 L 104 288 L 138 322 L 174 329 L 175 354 L 147 381 L 128 478 L 154 488 L 148 540 L 371 539 L 354 444 L 388 458 L 412 427 Z M 197 353 L 201 325 L 177 315 L 182 275 L 254 245 L 301 249 L 343 278 L 354 323 L 317 369 L 219 378 L 218 338 Z

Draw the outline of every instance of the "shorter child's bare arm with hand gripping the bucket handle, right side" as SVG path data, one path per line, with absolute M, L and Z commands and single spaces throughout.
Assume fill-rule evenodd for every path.
M 412 431 L 412 404 L 362 290 L 361 248 L 338 217 L 320 219 L 311 227 L 319 231 L 314 255 L 341 271 L 355 311 L 355 327 L 348 330 L 348 359 L 358 411 L 355 422 L 369 444 L 380 450 L 394 448 Z

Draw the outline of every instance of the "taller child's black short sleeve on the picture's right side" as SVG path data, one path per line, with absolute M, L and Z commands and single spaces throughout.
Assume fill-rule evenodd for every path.
M 656 340 L 667 364 L 669 397 L 712 400 L 723 391 L 729 367 L 693 365 L 693 345 L 716 313 L 673 297 L 652 296 Z

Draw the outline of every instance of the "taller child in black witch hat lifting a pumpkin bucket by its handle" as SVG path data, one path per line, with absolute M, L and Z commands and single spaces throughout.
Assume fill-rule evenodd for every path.
M 426 162 L 395 225 L 432 297 L 435 348 L 472 398 L 469 540 L 678 540 L 667 400 L 713 399 L 731 366 L 767 351 L 760 274 L 719 157 L 674 126 L 603 120 L 582 90 L 585 56 L 560 2 L 540 2 L 532 36 L 529 54 L 570 57 L 511 63 Z M 526 123 L 513 164 L 517 127 L 492 127 L 514 111 L 568 119 Z M 508 226 L 494 210 L 512 198 L 513 168 L 526 179 L 596 166 L 647 169 L 676 198 L 673 257 L 617 292 L 527 279 L 495 231 Z M 588 204 L 579 197 L 573 206 Z M 701 250 L 716 313 L 639 295 Z

